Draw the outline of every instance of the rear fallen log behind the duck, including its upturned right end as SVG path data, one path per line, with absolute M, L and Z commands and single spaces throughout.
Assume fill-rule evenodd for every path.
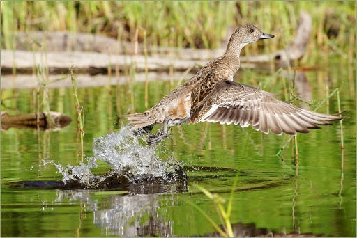
M 282 54 L 287 51 L 289 58 L 295 60 L 305 53 L 305 45 L 310 38 L 312 29 L 311 17 L 307 13 L 301 12 L 298 19 L 298 29 L 294 36 L 293 42 L 282 51 L 264 56 L 247 56 L 242 57 L 241 62 L 271 62 L 274 58 L 286 59 L 287 56 Z M 229 31 L 229 37 L 231 35 Z M 137 44 L 135 52 L 134 42 L 122 42 L 104 35 L 94 35 L 89 33 L 73 33 L 61 31 L 34 31 L 34 32 L 17 32 L 15 34 L 16 50 L 33 50 L 40 51 L 93 51 L 107 54 L 144 54 L 144 45 Z M 179 49 L 174 47 L 155 47 L 147 46 L 149 56 L 169 55 L 175 58 L 187 60 L 211 60 L 225 52 L 226 45 L 220 49 Z

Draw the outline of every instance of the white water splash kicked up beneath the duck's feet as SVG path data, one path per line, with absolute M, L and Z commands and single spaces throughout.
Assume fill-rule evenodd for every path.
M 155 154 L 156 145 L 144 145 L 144 136 L 133 134 L 130 126 L 123 126 L 119 132 L 113 132 L 96 138 L 93 143 L 93 157 L 87 157 L 86 163 L 79 166 L 63 166 L 54 161 L 43 161 L 43 164 L 54 164 L 63 175 L 63 182 L 79 182 L 86 187 L 96 187 L 96 184 L 106 180 L 113 174 L 122 174 L 128 180 L 137 180 L 143 176 L 172 179 L 179 162 L 173 157 L 162 161 Z M 104 161 L 110 167 L 110 173 L 93 175 L 91 168 L 98 166 L 97 161 Z M 169 176 L 171 175 L 171 176 Z

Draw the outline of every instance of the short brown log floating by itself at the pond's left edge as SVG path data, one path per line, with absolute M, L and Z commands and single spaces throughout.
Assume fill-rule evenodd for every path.
M 1 129 L 8 130 L 10 127 L 20 129 L 59 130 L 71 122 L 69 116 L 50 111 L 49 113 L 29 113 L 22 115 L 8 115 L 1 112 Z

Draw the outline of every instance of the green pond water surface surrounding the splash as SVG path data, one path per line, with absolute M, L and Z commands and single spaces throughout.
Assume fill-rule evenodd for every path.
M 238 81 L 264 88 L 284 99 L 281 77 L 246 72 Z M 172 136 L 157 148 L 160 158 L 176 157 L 188 168 L 185 193 L 96 194 L 88 190 L 15 189 L 12 182 L 61 180 L 56 168 L 40 166 L 41 160 L 79 164 L 75 122 L 56 132 L 10 128 L 1 132 L 1 235 L 3 237 L 98 237 L 98 236 L 197 236 L 211 235 L 213 226 L 190 203 L 221 224 L 211 200 L 192 183 L 229 198 L 238 173 L 231 223 L 238 235 L 310 233 L 332 237 L 356 235 L 356 91 L 344 68 L 331 72 L 307 72 L 307 86 L 315 104 L 341 88 L 344 150 L 340 146 L 340 123 L 298 135 L 298 174 L 291 143 L 275 156 L 289 136 L 261 134 L 234 125 L 201 123 L 172 129 Z M 105 78 L 107 76 L 103 76 Z M 328 88 L 326 88 L 328 77 Z M 259 84 L 260 82 L 260 84 Z M 175 82 L 174 82 L 175 83 Z M 288 82 L 286 82 L 286 86 Z M 149 84 L 149 106 L 174 86 L 169 81 Z M 299 86 L 301 87 L 301 86 Z M 3 97 L 16 95 L 4 105 L 11 114 L 36 111 L 36 89 L 3 90 Z M 328 93 L 327 93 L 328 94 Z M 71 89 L 49 90 L 50 110 L 75 121 Z M 116 132 L 127 122 L 122 115 L 144 111 L 144 84 L 79 88 L 85 108 L 84 150 L 93 155 L 93 138 Z M 298 104 L 298 102 L 295 102 Z M 4 110 L 4 109 L 3 109 Z M 336 113 L 333 95 L 318 110 Z M 343 163 L 343 166 L 342 166 Z M 226 169 L 229 168 L 229 169 Z M 93 173 L 109 169 L 99 163 Z M 145 185 L 143 184 L 143 189 Z

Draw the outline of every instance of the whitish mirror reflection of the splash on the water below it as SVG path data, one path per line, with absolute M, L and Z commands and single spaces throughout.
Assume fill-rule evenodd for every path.
M 98 198 L 90 191 L 57 191 L 56 202 L 80 201 L 93 212 L 93 223 L 103 228 L 105 235 L 124 237 L 172 235 L 172 222 L 163 221 L 158 194 L 136 196 L 107 196 Z M 96 198 L 97 197 L 97 198 Z M 100 202 L 99 202 L 100 199 Z M 174 204 L 173 198 L 166 198 Z

